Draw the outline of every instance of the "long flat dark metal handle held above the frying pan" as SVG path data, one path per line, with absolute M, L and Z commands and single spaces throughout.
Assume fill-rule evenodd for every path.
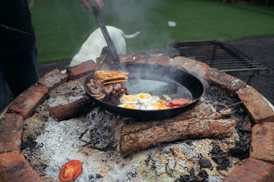
M 110 34 L 108 33 L 107 28 L 105 27 L 105 23 L 103 22 L 103 18 L 100 14 L 100 12 L 97 10 L 97 7 L 92 6 L 92 12 L 95 15 L 95 18 L 98 22 L 98 25 L 103 33 L 103 37 L 105 37 L 105 42 L 108 44 L 108 48 L 110 48 L 110 52 L 112 54 L 112 57 L 114 59 L 114 64 L 119 65 L 121 64 L 120 57 L 116 51 L 116 48 L 112 42 L 112 39 L 110 38 Z

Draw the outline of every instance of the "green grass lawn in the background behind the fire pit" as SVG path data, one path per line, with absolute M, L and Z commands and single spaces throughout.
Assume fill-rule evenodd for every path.
M 232 5 L 210 0 L 104 1 L 105 25 L 126 34 L 127 52 L 162 48 L 165 42 L 236 40 L 274 34 L 274 6 Z M 177 23 L 169 27 L 169 20 Z M 88 35 L 98 28 L 92 13 L 76 0 L 35 0 L 32 22 L 38 63 L 72 59 Z

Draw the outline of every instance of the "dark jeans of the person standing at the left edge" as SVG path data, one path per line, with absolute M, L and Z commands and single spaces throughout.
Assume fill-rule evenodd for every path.
M 5 80 L 14 97 L 37 82 L 37 49 L 16 52 L 13 55 L 0 55 L 0 112 L 5 108 Z

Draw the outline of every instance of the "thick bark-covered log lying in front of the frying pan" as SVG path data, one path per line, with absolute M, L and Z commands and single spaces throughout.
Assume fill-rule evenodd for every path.
M 127 156 L 173 140 L 230 136 L 236 121 L 221 117 L 223 115 L 213 112 L 208 104 L 199 102 L 195 108 L 171 119 L 124 125 L 121 128 L 120 153 Z

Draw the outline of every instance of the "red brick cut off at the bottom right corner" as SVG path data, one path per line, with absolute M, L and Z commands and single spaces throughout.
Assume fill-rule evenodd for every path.
M 248 158 L 242 160 L 223 182 L 271 182 L 274 181 L 274 166 L 272 164 Z

